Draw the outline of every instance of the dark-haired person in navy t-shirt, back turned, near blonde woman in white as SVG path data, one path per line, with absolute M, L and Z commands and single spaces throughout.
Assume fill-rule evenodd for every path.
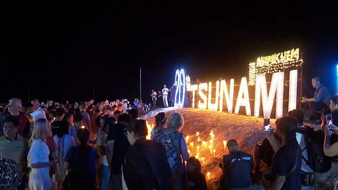
M 88 145 L 89 136 L 87 129 L 80 128 L 77 131 L 79 146 L 69 148 L 66 155 L 64 169 L 70 171 L 64 186 L 69 184 L 70 189 L 95 190 L 97 152 Z

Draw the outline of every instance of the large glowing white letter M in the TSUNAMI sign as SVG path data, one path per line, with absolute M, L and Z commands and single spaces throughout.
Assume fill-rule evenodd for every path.
M 260 96 L 262 92 L 262 105 L 264 118 L 270 118 L 273 99 L 276 97 L 276 119 L 283 116 L 283 92 L 284 92 L 284 72 L 273 73 L 268 95 L 265 74 L 256 76 L 256 90 L 254 98 L 254 116 L 259 116 Z

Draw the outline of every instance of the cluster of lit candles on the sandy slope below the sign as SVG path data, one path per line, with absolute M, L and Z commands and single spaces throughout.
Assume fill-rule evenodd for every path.
M 211 129 L 209 135 L 210 135 L 211 139 L 209 140 L 209 146 L 208 146 L 208 148 L 209 148 L 209 151 L 210 151 L 211 155 L 214 155 L 214 158 L 215 158 L 216 157 L 216 150 L 214 149 L 214 140 L 215 140 L 214 130 Z M 197 137 L 197 142 L 200 143 L 201 142 L 200 132 L 196 132 L 196 137 Z M 190 139 L 190 137 L 189 137 L 189 135 L 187 135 L 186 136 L 186 143 L 189 142 L 189 139 Z M 224 140 L 222 142 L 223 142 L 224 151 L 226 151 L 226 143 L 227 143 L 227 141 Z M 190 145 L 191 149 L 194 150 L 194 142 L 189 142 L 189 145 Z M 202 141 L 201 142 L 201 146 L 202 147 L 204 146 L 204 148 L 207 149 L 207 142 Z M 188 153 L 190 155 L 190 150 L 188 150 Z M 200 159 L 199 157 L 200 157 L 200 146 L 198 145 L 198 146 L 196 146 L 196 155 L 195 155 L 195 158 L 196 159 Z M 202 157 L 201 161 L 202 161 L 203 165 L 205 164 L 204 160 L 205 160 L 205 158 Z M 207 179 L 210 179 L 210 172 L 208 172 L 206 174 L 206 177 L 207 177 Z

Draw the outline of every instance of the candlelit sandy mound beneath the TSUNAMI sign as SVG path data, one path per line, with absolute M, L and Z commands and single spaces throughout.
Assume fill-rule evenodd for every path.
M 202 163 L 202 172 L 207 175 L 210 172 L 210 178 L 207 180 L 208 189 L 217 189 L 219 184 L 219 178 L 221 170 L 218 167 L 222 161 L 222 156 L 228 154 L 228 150 L 224 151 L 224 140 L 236 139 L 239 147 L 242 151 L 253 154 L 254 144 L 262 141 L 265 138 L 263 132 L 263 118 L 249 117 L 245 115 L 236 115 L 220 111 L 209 111 L 192 108 L 164 108 L 150 111 L 148 114 L 141 116 L 141 119 L 148 120 L 149 124 L 154 124 L 155 118 L 158 112 L 167 112 L 170 115 L 172 112 L 180 112 L 185 119 L 185 126 L 182 129 L 185 137 L 188 135 L 187 142 L 188 149 L 190 150 L 190 156 L 196 156 L 196 149 L 199 145 L 199 159 L 202 161 L 204 158 L 204 164 Z M 168 115 L 168 116 L 169 116 Z M 271 126 L 274 127 L 274 119 L 270 119 Z M 310 125 L 310 124 L 309 124 Z M 311 125 L 310 125 L 311 126 Z M 316 127 L 318 126 L 311 126 Z M 215 140 L 213 141 L 211 151 L 209 149 L 211 140 L 210 131 L 213 130 L 215 134 Z M 199 132 L 200 142 L 198 142 L 196 132 Z M 207 144 L 202 145 L 202 141 Z M 193 147 L 190 146 L 190 143 Z M 215 149 L 215 154 L 211 154 Z M 337 168 L 337 163 L 333 164 L 333 169 L 325 174 L 316 174 L 314 187 L 320 189 L 332 189 L 333 182 L 338 178 L 338 174 L 333 171 Z M 313 188 L 313 187 L 312 187 Z M 253 189 L 262 189 L 259 184 L 254 185 Z M 310 189 L 310 187 L 304 188 Z

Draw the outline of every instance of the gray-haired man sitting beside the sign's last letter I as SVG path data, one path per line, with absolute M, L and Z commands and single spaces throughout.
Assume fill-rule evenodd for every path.
M 307 102 L 309 104 L 309 109 L 315 119 L 315 123 L 320 124 L 321 122 L 321 113 L 317 111 L 328 110 L 330 106 L 330 92 L 323 86 L 322 81 L 319 77 L 315 77 L 312 80 L 312 87 L 316 89 L 313 98 L 302 97 L 301 102 Z

